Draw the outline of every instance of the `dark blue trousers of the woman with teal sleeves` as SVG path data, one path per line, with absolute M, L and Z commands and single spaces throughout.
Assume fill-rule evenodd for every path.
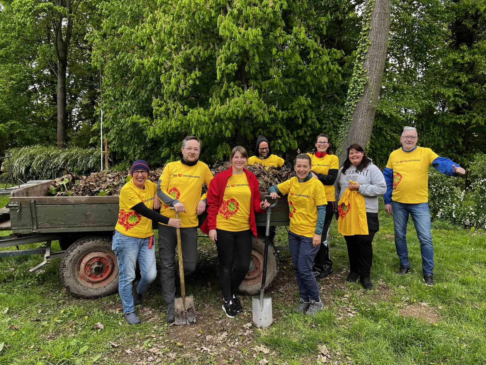
M 320 246 L 312 246 L 312 237 L 299 236 L 289 231 L 290 256 L 292 256 L 292 262 L 294 263 L 299 294 L 305 302 L 308 302 L 309 299 L 316 302 L 320 300 L 319 286 L 312 273 L 314 257 Z

